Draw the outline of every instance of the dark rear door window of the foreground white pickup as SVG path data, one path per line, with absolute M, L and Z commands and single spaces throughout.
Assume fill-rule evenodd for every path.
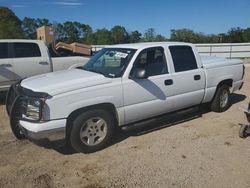
M 197 69 L 197 62 L 190 46 L 169 46 L 175 72 Z

